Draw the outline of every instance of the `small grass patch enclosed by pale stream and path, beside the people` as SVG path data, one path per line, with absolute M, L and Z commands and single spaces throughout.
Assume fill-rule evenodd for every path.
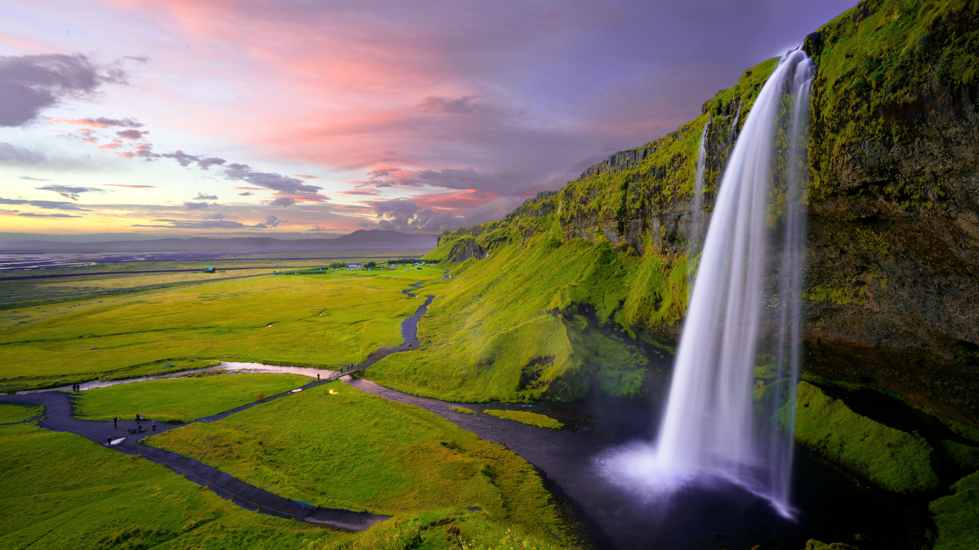
M 312 379 L 294 374 L 231 374 L 120 384 L 81 392 L 75 416 L 87 420 L 132 418 L 189 422 L 293 390 Z

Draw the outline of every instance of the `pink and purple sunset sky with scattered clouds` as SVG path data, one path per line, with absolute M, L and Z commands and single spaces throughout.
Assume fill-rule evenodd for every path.
M 0 233 L 498 219 L 855 3 L 0 0 Z

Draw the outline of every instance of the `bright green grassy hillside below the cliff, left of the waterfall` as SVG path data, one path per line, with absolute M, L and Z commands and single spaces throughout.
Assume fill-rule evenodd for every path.
M 556 226 L 553 215 L 540 220 Z M 460 401 L 576 399 L 591 388 L 638 396 L 666 349 L 636 340 L 617 319 L 676 318 L 685 258 L 615 252 L 600 238 L 562 243 L 554 230 L 500 245 L 426 285 L 437 298 L 417 351 L 364 375 L 396 390 Z M 678 264 L 678 265 L 677 265 Z M 628 325 L 627 325 L 628 326 Z

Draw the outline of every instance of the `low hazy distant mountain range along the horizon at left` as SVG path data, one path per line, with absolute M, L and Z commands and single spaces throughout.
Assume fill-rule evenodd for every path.
M 312 251 L 320 250 L 404 250 L 428 251 L 434 249 L 438 238 L 434 235 L 407 235 L 397 231 L 360 229 L 336 239 L 283 240 L 271 237 L 235 237 L 211 239 L 153 239 L 148 241 L 107 241 L 103 243 L 63 243 L 50 241 L 14 241 L 0 243 L 0 250 L 7 251 L 71 251 L 71 252 L 219 252 L 219 251 Z

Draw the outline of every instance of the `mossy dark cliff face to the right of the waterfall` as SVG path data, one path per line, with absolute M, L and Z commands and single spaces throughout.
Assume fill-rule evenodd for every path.
M 864 1 L 807 42 L 806 368 L 979 424 L 979 3 Z

